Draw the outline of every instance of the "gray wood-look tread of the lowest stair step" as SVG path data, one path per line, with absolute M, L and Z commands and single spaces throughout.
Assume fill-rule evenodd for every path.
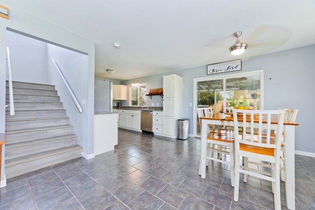
M 9 167 L 9 166 L 13 166 L 13 165 L 29 162 L 29 161 L 32 161 L 32 160 L 36 160 L 36 159 L 52 156 L 52 155 L 55 155 L 55 154 L 60 154 L 60 153 L 66 152 L 66 151 L 78 150 L 78 149 L 82 149 L 82 147 L 79 146 L 79 145 L 74 145 L 74 146 L 64 147 L 64 148 L 61 148 L 61 149 L 40 152 L 40 153 L 37 153 L 37 154 L 31 154 L 31 155 L 27 155 L 27 156 L 23 156 L 23 157 L 17 157 L 17 158 L 13 158 L 13 159 L 5 161 L 5 167 Z

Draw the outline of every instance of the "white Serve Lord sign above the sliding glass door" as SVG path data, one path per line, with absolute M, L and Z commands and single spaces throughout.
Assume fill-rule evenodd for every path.
M 228 62 L 207 65 L 208 75 L 239 70 L 242 70 L 242 60 L 232 60 Z

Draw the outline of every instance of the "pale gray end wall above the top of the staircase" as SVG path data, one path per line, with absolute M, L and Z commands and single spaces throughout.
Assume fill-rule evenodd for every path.
M 7 30 L 6 43 L 10 49 L 12 80 L 49 84 L 45 42 Z

